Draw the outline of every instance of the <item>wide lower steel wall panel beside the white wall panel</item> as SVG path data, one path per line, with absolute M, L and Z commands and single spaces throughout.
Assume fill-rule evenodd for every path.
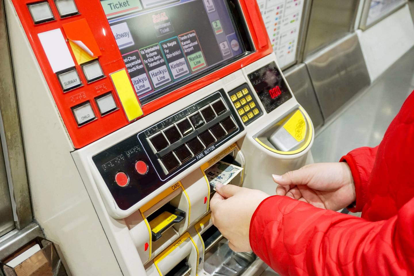
M 325 120 L 371 84 L 356 34 L 321 50 L 305 63 Z

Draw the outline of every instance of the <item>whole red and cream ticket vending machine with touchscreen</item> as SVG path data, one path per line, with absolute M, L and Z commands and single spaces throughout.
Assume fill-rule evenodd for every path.
M 5 4 L 34 216 L 70 273 L 259 275 L 212 225 L 205 172 L 274 194 L 314 131 L 256 2 Z

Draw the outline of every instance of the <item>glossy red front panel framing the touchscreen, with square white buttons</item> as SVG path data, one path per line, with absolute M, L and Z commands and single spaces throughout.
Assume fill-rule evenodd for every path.
M 129 120 L 125 107 L 138 101 L 136 94 L 136 99 L 120 99 L 110 78 L 127 68 L 99 0 L 74 0 L 76 7 L 60 5 L 59 0 L 12 2 L 75 148 L 140 118 L 141 113 Z M 145 104 L 143 115 L 272 53 L 256 1 L 240 0 L 240 5 L 255 52 Z M 63 41 L 67 50 L 59 48 Z

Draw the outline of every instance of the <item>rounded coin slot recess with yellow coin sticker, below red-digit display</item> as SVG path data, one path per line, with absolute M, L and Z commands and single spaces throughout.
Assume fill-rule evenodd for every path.
M 295 108 L 282 120 L 273 122 L 254 136 L 255 140 L 278 154 L 303 151 L 312 139 L 312 125 L 303 108 Z

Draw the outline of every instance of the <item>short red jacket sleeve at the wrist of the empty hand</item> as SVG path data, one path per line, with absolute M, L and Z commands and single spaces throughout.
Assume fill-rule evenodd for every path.
M 378 146 L 370 148 L 364 146 L 354 149 L 347 155 L 342 156 L 341 161 L 346 161 L 354 178 L 356 205 L 349 208 L 351 212 L 361 212 L 365 204 L 364 192 L 375 163 Z

